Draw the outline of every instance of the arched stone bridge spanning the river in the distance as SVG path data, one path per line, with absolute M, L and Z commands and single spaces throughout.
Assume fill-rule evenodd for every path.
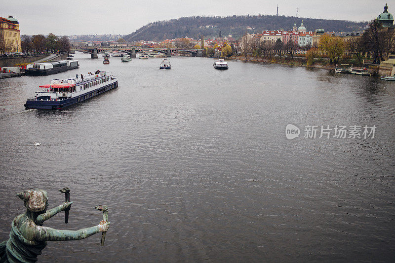
M 70 51 L 81 51 L 84 53 L 89 53 L 92 59 L 97 59 L 98 53 L 103 52 L 113 52 L 113 51 L 122 51 L 130 55 L 130 57 L 135 58 L 136 53 L 142 51 L 156 51 L 159 53 L 166 54 L 167 57 L 171 57 L 171 53 L 177 51 L 185 51 L 190 53 L 193 57 L 202 57 L 204 49 L 197 48 L 154 48 L 154 47 L 138 47 L 138 46 L 126 46 L 126 47 L 117 47 L 117 46 L 107 46 L 107 47 L 70 47 Z

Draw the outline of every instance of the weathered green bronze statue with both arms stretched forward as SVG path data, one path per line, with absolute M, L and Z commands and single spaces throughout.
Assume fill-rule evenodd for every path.
M 80 230 L 43 227 L 45 220 L 70 209 L 73 202 L 64 202 L 47 211 L 46 191 L 25 190 L 17 196 L 24 201 L 26 213 L 12 221 L 9 239 L 0 243 L 0 263 L 34 263 L 37 261 L 37 256 L 41 255 L 41 250 L 47 245 L 46 241 L 79 240 L 99 232 L 105 233 L 110 226 L 110 222 L 103 220 L 97 226 Z

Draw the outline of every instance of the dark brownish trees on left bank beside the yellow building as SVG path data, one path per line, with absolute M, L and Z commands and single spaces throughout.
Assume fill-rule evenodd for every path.
M 21 35 L 22 52 L 70 52 L 70 40 L 64 36 L 57 36 L 49 33 L 48 36 L 42 34 Z

